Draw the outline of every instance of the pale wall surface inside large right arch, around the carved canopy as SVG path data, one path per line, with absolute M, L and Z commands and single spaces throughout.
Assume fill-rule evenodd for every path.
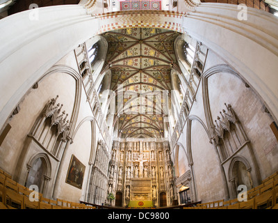
M 216 90 L 217 89 L 217 90 Z M 208 96 L 213 120 L 229 103 L 252 143 L 259 162 L 261 178 L 266 178 L 278 169 L 278 142 L 270 129 L 273 119 L 264 112 L 263 103 L 251 88 L 236 76 L 218 73 L 208 78 Z

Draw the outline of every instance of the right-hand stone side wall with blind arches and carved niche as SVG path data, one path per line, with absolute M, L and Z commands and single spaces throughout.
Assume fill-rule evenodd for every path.
M 195 201 L 236 197 L 236 187 L 240 181 L 237 175 L 242 174 L 235 174 L 236 163 L 245 165 L 245 176 L 250 179 L 250 182 L 247 182 L 248 187 L 251 187 L 250 184 L 253 187 L 259 185 L 263 178 L 278 169 L 278 163 L 275 161 L 278 157 L 278 142 L 270 129 L 274 119 L 265 109 L 256 90 L 248 86 L 236 71 L 226 70 L 226 66 L 223 59 L 208 49 L 204 77 L 200 79 L 196 100 L 177 142 L 177 146 L 183 146 L 187 157 L 181 155 L 181 146 L 178 150 L 173 150 L 176 171 L 181 171 L 186 162 L 188 169 L 191 167 L 191 176 L 195 180 Z M 208 72 L 211 72 L 211 75 Z M 230 155 L 223 160 L 220 154 L 221 146 L 215 141 L 218 137 L 215 137 L 209 116 L 214 125 L 217 125 L 215 120 L 218 120 L 218 124 L 226 120 L 223 116 L 225 112 L 229 112 L 228 105 L 231 105 L 237 117 L 235 131 L 241 132 L 238 137 L 245 139 L 240 139 L 242 144 L 234 146 L 234 151 L 229 152 Z M 229 123 L 231 126 L 231 122 Z M 223 123 L 222 125 L 224 126 Z M 224 137 L 227 137 L 227 134 L 228 131 L 224 129 Z M 236 134 L 234 139 L 232 137 L 229 142 L 237 140 Z

